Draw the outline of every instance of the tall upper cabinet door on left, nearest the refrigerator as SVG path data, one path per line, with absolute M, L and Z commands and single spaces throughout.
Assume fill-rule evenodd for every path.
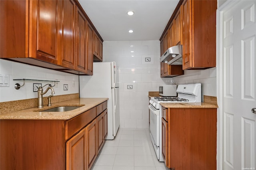
M 86 73 L 92 75 L 92 65 L 93 65 L 93 29 L 92 26 L 87 22 L 86 28 L 86 39 L 87 39 L 87 57 L 86 57 Z

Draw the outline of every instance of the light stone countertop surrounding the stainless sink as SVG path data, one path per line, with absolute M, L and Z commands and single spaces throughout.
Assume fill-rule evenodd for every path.
M 72 99 L 68 101 L 53 103 L 52 106 L 50 107 L 48 107 L 47 105 L 44 105 L 43 108 L 33 107 L 30 109 L 24 109 L 20 111 L 2 113 L 0 114 L 0 119 L 68 120 L 107 100 L 108 98 Z M 82 107 L 78 109 L 74 109 L 72 111 L 66 111 L 66 112 L 40 112 L 43 110 L 51 109 L 54 107 L 60 107 L 60 106 L 82 106 Z

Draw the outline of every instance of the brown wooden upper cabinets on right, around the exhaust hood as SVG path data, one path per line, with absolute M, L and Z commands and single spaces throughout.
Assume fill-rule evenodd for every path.
M 183 70 L 216 67 L 216 9 L 216 0 L 180 0 L 160 38 L 161 55 L 181 44 Z M 161 77 L 184 74 L 171 71 L 173 66 L 169 73 L 169 66 L 161 63 Z

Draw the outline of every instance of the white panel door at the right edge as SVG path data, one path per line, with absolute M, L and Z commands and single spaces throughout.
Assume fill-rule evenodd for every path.
M 256 168 L 255 0 L 222 11 L 222 168 Z

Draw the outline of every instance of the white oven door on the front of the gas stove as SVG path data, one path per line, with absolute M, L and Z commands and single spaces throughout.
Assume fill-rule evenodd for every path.
M 148 105 L 150 110 L 150 134 L 153 138 L 154 144 L 159 146 L 159 109 L 154 108 L 152 105 Z

